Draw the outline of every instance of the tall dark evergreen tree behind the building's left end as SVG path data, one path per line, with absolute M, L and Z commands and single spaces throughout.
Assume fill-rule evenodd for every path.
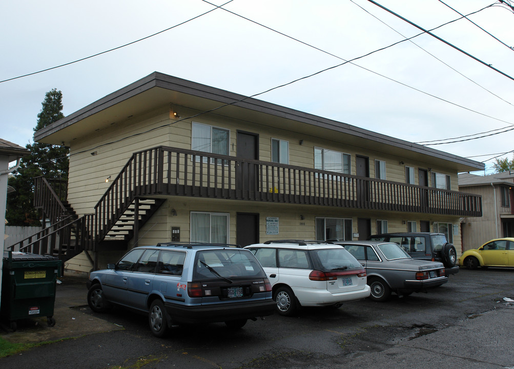
M 43 107 L 34 132 L 64 118 L 61 91 L 51 89 L 41 104 Z M 33 206 L 35 177 L 68 179 L 68 147 L 39 142 L 28 143 L 25 147 L 30 154 L 22 158 L 20 168 L 8 179 L 8 185 L 16 191 L 7 196 L 6 219 L 10 226 L 41 225 L 41 215 Z

